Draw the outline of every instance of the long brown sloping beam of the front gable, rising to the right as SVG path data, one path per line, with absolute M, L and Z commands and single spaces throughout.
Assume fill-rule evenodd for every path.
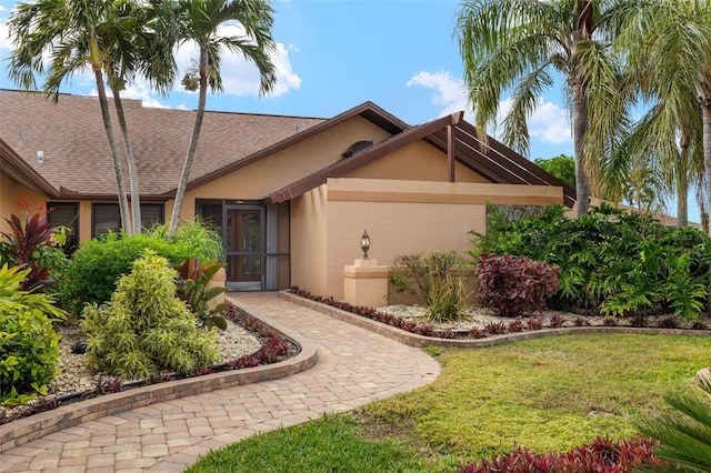
M 272 203 L 280 203 L 298 198 L 299 195 L 324 184 L 329 178 L 340 178 L 404 145 L 422 140 L 438 130 L 442 130 L 448 125 L 457 125 L 462 120 L 463 113 L 464 112 L 452 113 L 429 123 L 412 127 L 394 137 L 381 141 L 352 158 L 338 161 L 337 163 L 303 178 L 291 185 L 282 188 L 271 195 L 268 195 L 264 200 Z

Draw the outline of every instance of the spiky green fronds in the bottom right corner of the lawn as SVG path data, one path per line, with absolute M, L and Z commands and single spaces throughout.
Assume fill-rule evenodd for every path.
M 698 380 L 705 394 L 711 394 L 711 381 Z M 658 416 L 648 416 L 639 422 L 645 435 L 659 441 L 654 453 L 669 463 L 669 471 L 711 471 L 711 405 L 708 395 L 675 393 L 664 396 L 672 407 Z

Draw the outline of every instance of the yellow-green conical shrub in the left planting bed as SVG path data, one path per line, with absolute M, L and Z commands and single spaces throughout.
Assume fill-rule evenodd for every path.
M 217 362 L 216 332 L 198 330 L 196 316 L 176 295 L 176 278 L 164 258 L 146 250 L 110 302 L 87 305 L 83 328 L 92 370 L 132 380 Z

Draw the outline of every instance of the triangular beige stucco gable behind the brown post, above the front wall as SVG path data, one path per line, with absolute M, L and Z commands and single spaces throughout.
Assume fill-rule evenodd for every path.
M 404 181 L 447 181 L 447 154 L 418 141 L 370 162 L 350 173 L 348 178 L 397 179 Z M 474 171 L 457 163 L 457 182 L 489 182 Z

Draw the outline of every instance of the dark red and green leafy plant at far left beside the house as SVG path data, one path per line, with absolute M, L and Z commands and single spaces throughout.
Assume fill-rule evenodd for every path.
M 31 290 L 54 284 L 67 265 L 61 250 L 66 229 L 52 232 L 44 217 L 44 205 L 40 204 L 30 212 L 28 199 L 18 200 L 22 211 L 4 219 L 10 227 L 9 233 L 0 233 L 0 264 L 27 268 L 30 271 L 20 284 L 20 289 Z

